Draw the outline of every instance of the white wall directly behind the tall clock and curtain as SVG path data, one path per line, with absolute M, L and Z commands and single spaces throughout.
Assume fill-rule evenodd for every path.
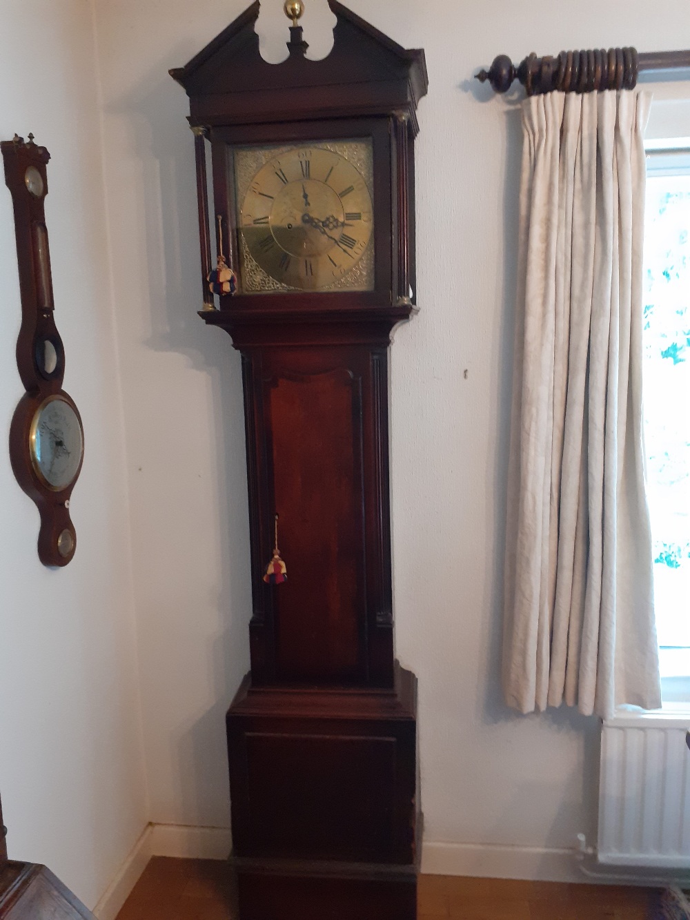
M 520 120 L 472 75 L 498 52 L 688 47 L 686 0 L 350 5 L 423 46 L 430 75 L 418 146 L 421 313 L 393 348 L 391 461 L 397 649 L 420 678 L 426 836 L 567 848 L 594 827 L 598 724 L 565 711 L 525 718 L 500 700 Z M 247 668 L 239 360 L 196 316 L 193 144 L 187 98 L 167 75 L 244 6 L 96 0 L 155 822 L 227 824 L 224 710 Z M 281 6 L 264 0 L 259 19 L 271 60 L 287 38 Z M 323 54 L 326 0 L 307 7 L 305 37 Z

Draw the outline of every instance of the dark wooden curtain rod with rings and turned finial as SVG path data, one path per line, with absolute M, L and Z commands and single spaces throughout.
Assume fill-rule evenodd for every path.
M 505 93 L 519 80 L 528 96 L 550 93 L 591 93 L 598 89 L 633 89 L 638 74 L 645 70 L 690 68 L 690 50 L 681 52 L 643 52 L 634 48 L 596 49 L 585 52 L 560 52 L 557 57 L 538 58 L 528 54 L 514 66 L 507 54 L 494 58 L 489 70 L 476 75 L 480 83 L 489 80 L 497 93 Z

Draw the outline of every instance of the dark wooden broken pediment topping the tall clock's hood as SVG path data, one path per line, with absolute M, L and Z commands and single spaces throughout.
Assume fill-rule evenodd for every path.
M 328 0 L 337 17 L 327 57 L 305 57 L 301 27 L 293 27 L 289 57 L 268 63 L 259 53 L 255 25 L 259 0 L 170 75 L 190 97 L 192 125 L 265 123 L 333 116 L 406 112 L 416 132 L 428 78 L 424 52 L 407 50 L 374 26 Z

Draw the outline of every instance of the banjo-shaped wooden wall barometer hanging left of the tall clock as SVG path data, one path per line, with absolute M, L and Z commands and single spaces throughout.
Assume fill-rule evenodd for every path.
M 26 389 L 10 426 L 10 460 L 18 484 L 34 500 L 40 512 L 38 549 L 41 562 L 65 566 L 75 555 L 76 533 L 69 504 L 81 471 L 84 440 L 79 411 L 62 388 L 64 348 L 55 325 L 44 213 L 48 193 L 47 164 L 51 155 L 45 147 L 35 144 L 30 134 L 28 143 L 15 135 L 12 141 L 2 142 L 0 149 L 14 207 L 22 310 L 17 368 Z M 62 421 L 47 427 L 53 460 L 57 466 L 63 466 L 59 477 L 52 475 L 55 473 L 53 466 L 48 469 L 41 464 L 37 451 L 41 415 L 51 405 L 63 414 Z

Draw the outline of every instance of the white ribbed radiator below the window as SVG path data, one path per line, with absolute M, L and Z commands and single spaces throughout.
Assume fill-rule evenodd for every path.
M 598 860 L 690 868 L 690 716 L 650 713 L 604 722 Z

